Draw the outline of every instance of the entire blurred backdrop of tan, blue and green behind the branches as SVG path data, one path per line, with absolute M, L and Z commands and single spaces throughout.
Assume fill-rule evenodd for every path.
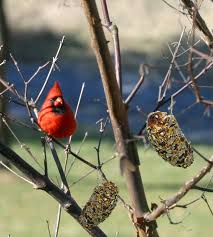
M 99 1 L 96 1 L 99 8 Z M 188 33 L 191 29 L 191 20 L 183 16 L 178 11 L 169 7 L 163 1 L 150 0 L 108 0 L 108 8 L 111 20 L 118 26 L 120 35 L 121 55 L 122 55 L 122 76 L 123 76 L 123 97 L 126 98 L 131 92 L 137 80 L 140 78 L 139 68 L 141 64 L 151 65 L 149 75 L 130 104 L 130 127 L 133 133 L 138 133 L 141 126 L 146 121 L 146 116 L 155 106 L 158 98 L 159 85 L 169 67 L 172 58 L 168 50 L 168 45 L 174 51 L 184 27 L 182 49 L 189 47 Z M 180 3 L 170 0 L 169 3 L 180 9 Z M 88 132 L 88 141 L 82 149 L 82 156 L 96 161 L 96 152 L 93 149 L 98 143 L 97 121 L 105 118 L 106 103 L 104 99 L 103 87 L 98 71 L 97 63 L 91 49 L 90 37 L 87 22 L 79 0 L 0 0 L 1 10 L 1 59 L 7 58 L 7 63 L 1 68 L 1 75 L 5 80 L 14 83 L 20 92 L 24 91 L 16 67 L 9 57 L 12 53 L 24 75 L 30 78 L 40 65 L 51 61 L 55 56 L 59 42 L 65 35 L 64 45 L 57 61 L 58 69 L 55 70 L 45 90 L 39 104 L 52 86 L 55 80 L 60 81 L 66 100 L 76 108 L 78 96 L 82 83 L 85 82 L 85 89 L 78 113 L 78 132 L 74 136 L 73 147 L 78 150 L 80 140 L 85 132 Z M 100 8 L 101 9 L 101 8 Z M 209 29 L 213 29 L 213 4 L 211 1 L 203 1 L 200 13 L 206 20 Z M 100 11 L 102 18 L 102 13 Z M 113 55 L 113 44 L 110 33 L 105 29 L 109 47 Z M 197 39 L 200 33 L 197 32 Z M 201 40 L 197 48 L 208 53 L 206 45 Z M 180 64 L 187 61 L 187 56 L 181 57 Z M 199 72 L 204 64 L 200 64 L 195 72 Z M 49 67 L 42 70 L 32 81 L 29 87 L 29 98 L 35 98 L 38 94 Z M 186 73 L 186 70 L 183 71 Z M 172 71 L 172 84 L 168 95 L 171 95 L 178 88 L 183 86 L 183 80 L 178 71 Z M 205 75 L 199 82 L 202 87 L 202 94 L 206 99 L 213 99 L 212 72 Z M 196 143 L 199 150 L 210 156 L 213 152 L 213 123 L 212 110 L 206 113 L 203 105 L 194 104 L 194 92 L 189 88 L 175 99 L 173 113 L 176 115 L 187 138 Z M 2 105 L 1 105 L 2 106 Z M 170 104 L 162 107 L 167 111 Z M 11 116 L 27 120 L 27 111 L 12 103 L 6 105 L 7 113 Z M 27 121 L 29 124 L 30 122 Z M 27 130 L 23 132 L 20 126 L 14 126 L 16 134 L 21 135 L 22 141 L 30 146 L 35 154 L 41 153 L 40 140 L 38 134 Z M 110 128 L 107 133 L 111 133 Z M 1 136 L 6 142 L 9 135 Z M 20 154 L 25 155 L 19 144 L 14 139 L 10 141 L 11 146 Z M 115 151 L 112 139 L 103 140 L 102 157 L 110 158 Z M 171 168 L 164 161 L 159 159 L 157 154 L 139 143 L 139 154 L 142 162 L 143 179 L 148 193 L 148 200 L 160 201 L 160 197 L 167 197 L 177 190 L 180 184 L 192 174 L 197 172 L 202 161 L 197 159 L 195 165 L 188 172 L 185 170 Z M 60 153 L 63 156 L 63 151 Z M 32 161 L 29 161 L 32 162 Z M 118 163 L 118 161 L 116 161 Z M 106 166 L 109 169 L 110 178 L 119 185 L 121 194 L 128 201 L 125 183 L 119 173 L 119 165 L 110 163 Z M 58 175 L 54 164 L 50 161 L 50 174 L 52 177 Z M 150 177 L 150 170 L 154 170 L 155 176 Z M 76 181 L 82 172 L 87 172 L 85 167 L 76 165 L 72 169 L 70 182 Z M 57 205 L 46 194 L 32 191 L 31 187 L 23 184 L 14 176 L 9 176 L 5 172 L 0 173 L 0 235 L 12 237 L 19 236 L 48 236 L 46 220 L 49 220 L 53 229 Z M 203 182 L 207 182 L 205 179 Z M 94 182 L 97 183 L 97 174 L 85 181 L 81 185 L 72 188 L 73 195 L 78 197 L 80 205 L 88 200 Z M 185 201 L 191 201 L 197 197 L 197 192 L 192 192 L 192 196 Z M 10 204 L 8 206 L 8 203 Z M 211 198 L 211 204 L 212 198 Z M 120 212 L 119 212 L 120 211 Z M 117 214 L 120 213 L 120 214 Z M 131 222 L 122 205 L 118 205 L 117 211 L 112 214 L 101 227 L 109 236 L 131 236 L 134 233 Z M 188 218 L 189 217 L 189 218 Z M 169 225 L 166 217 L 159 219 L 160 234 L 173 235 L 174 237 L 187 236 L 198 237 L 209 236 L 212 230 L 212 219 L 205 204 L 198 202 L 196 210 L 179 210 L 174 214 L 174 218 L 180 220 L 184 218 L 182 224 L 178 226 Z M 113 228 L 112 228 L 113 227 Z M 63 236 L 87 236 L 87 234 L 69 218 L 63 215 L 61 226 Z

